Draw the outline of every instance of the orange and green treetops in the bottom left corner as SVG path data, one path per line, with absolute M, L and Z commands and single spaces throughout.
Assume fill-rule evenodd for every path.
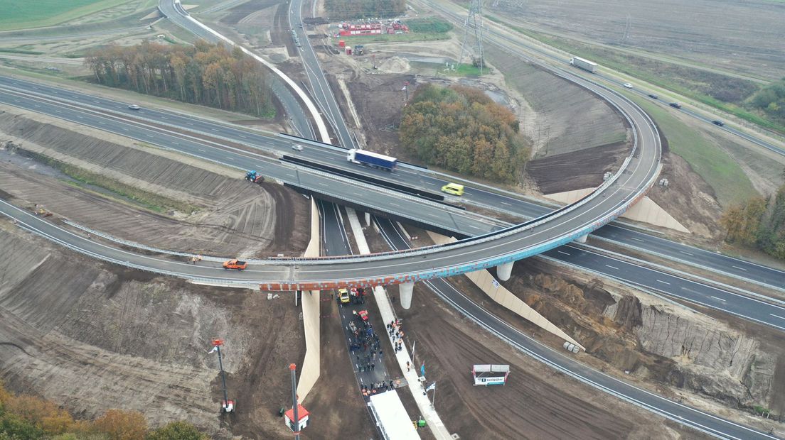
M 136 411 L 109 409 L 91 421 L 74 420 L 53 402 L 31 395 L 14 395 L 0 383 L 0 439 L 27 440 L 207 440 L 192 424 L 173 422 L 148 430 L 144 416 Z

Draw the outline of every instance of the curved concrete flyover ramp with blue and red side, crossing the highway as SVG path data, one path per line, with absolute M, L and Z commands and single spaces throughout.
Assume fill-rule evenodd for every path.
M 491 266 L 501 266 L 499 272 L 504 278 L 505 272 L 509 276 L 513 261 L 579 240 L 622 215 L 644 196 L 659 174 L 659 133 L 648 115 L 630 100 L 600 85 L 578 77 L 569 79 L 608 99 L 630 122 L 633 149 L 622 168 L 575 204 L 523 225 L 457 243 L 354 257 L 272 258 L 250 265 L 242 272 L 227 272 L 216 263 L 194 266 L 95 243 L 10 204 L 0 204 L 0 211 L 35 233 L 94 258 L 191 280 L 246 286 L 258 284 L 265 290 L 319 290 L 397 283 L 404 285 L 405 295 L 418 280 L 454 276 Z M 407 298 L 402 298 L 404 305 L 407 302 Z

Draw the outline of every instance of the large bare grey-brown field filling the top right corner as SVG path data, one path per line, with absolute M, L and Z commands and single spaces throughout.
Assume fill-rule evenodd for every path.
M 500 0 L 486 7 L 535 31 L 659 52 L 770 79 L 780 78 L 785 70 L 785 5 L 780 2 Z

